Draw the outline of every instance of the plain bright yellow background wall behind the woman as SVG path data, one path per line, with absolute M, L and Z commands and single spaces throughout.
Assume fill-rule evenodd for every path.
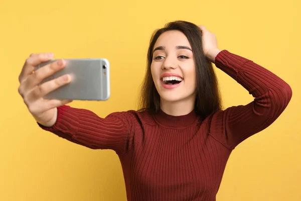
M 117 155 L 41 130 L 18 94 L 18 76 L 31 53 L 104 57 L 111 64 L 110 99 L 71 106 L 101 117 L 136 109 L 150 35 L 174 20 L 204 25 L 220 49 L 271 70 L 293 91 L 283 114 L 233 151 L 217 200 L 301 200 L 300 9 L 297 0 L 1 0 L 0 200 L 126 200 Z M 216 72 L 225 107 L 252 100 Z

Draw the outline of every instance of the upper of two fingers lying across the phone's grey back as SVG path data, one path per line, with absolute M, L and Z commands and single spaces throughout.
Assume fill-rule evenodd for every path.
M 35 73 L 31 74 L 24 83 L 24 90 L 30 90 L 36 87 L 43 79 L 53 75 L 55 72 L 63 69 L 66 65 L 64 60 L 52 62 L 42 68 L 39 68 Z

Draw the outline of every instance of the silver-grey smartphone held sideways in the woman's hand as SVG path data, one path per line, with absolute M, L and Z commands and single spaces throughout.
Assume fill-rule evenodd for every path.
M 53 59 L 39 64 L 35 70 L 50 64 Z M 40 84 L 60 77 L 71 76 L 70 83 L 45 95 L 47 99 L 107 100 L 110 97 L 110 64 L 105 58 L 64 59 L 66 66 L 62 70 L 45 78 Z

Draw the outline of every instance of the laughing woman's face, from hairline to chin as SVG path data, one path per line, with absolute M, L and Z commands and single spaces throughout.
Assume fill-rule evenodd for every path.
M 179 102 L 196 97 L 196 73 L 192 48 L 180 31 L 160 35 L 154 46 L 150 65 L 155 86 L 165 102 Z

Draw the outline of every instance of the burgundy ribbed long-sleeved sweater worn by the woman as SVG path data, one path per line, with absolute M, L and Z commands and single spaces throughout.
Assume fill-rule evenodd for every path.
M 217 55 L 215 64 L 246 88 L 254 101 L 205 120 L 194 112 L 174 117 L 163 111 L 116 112 L 100 118 L 88 110 L 62 106 L 53 127 L 40 126 L 92 149 L 114 150 L 128 200 L 213 201 L 231 151 L 272 124 L 292 94 L 272 72 L 227 50 Z

